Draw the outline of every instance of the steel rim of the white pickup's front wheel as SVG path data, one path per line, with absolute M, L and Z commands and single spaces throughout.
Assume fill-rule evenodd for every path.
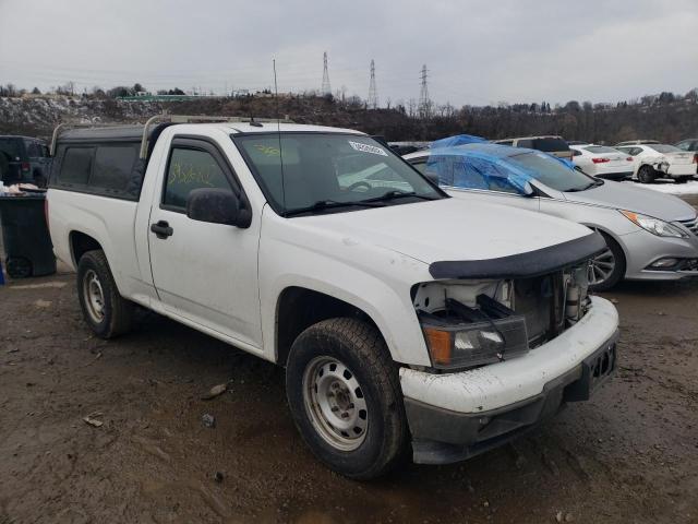
M 369 409 L 363 390 L 339 360 L 316 357 L 308 364 L 303 403 L 313 429 L 333 448 L 353 451 L 365 440 Z

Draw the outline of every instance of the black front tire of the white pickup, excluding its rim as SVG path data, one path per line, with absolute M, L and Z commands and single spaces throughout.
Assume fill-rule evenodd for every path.
M 354 374 L 366 403 L 368 427 L 361 444 L 341 451 L 316 429 L 306 407 L 303 377 L 317 358 L 328 357 Z M 303 331 L 286 368 L 286 393 L 293 420 L 313 454 L 335 472 L 358 480 L 380 477 L 409 450 L 409 430 L 397 366 L 381 333 L 349 318 L 329 319 Z

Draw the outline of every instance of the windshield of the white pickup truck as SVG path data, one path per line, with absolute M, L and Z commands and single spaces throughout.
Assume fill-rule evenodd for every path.
M 339 133 L 232 135 L 279 214 L 402 204 L 443 198 L 422 175 L 370 136 Z

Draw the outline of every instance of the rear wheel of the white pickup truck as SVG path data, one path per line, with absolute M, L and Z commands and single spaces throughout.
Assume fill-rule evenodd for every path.
M 77 263 L 77 297 L 89 329 L 101 338 L 127 333 L 134 305 L 119 295 L 104 251 L 87 251 Z

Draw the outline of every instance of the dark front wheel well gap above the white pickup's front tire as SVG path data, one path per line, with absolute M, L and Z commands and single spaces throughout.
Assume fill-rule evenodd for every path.
M 276 362 L 286 366 L 293 341 L 305 329 L 337 317 L 360 319 L 377 330 L 371 317 L 349 302 L 303 287 L 284 289 L 276 310 Z

